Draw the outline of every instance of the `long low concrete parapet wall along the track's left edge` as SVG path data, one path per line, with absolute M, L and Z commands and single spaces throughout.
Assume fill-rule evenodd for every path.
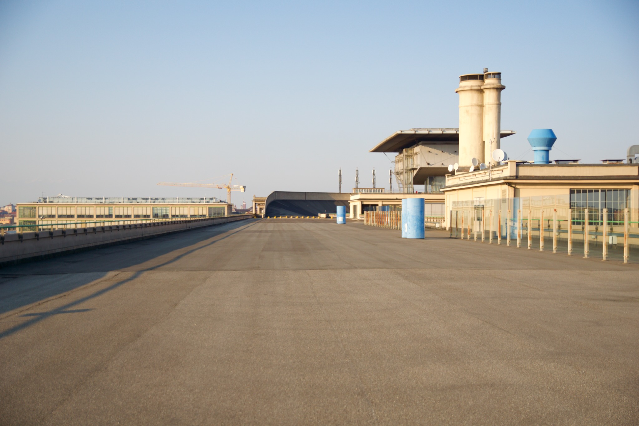
M 171 232 L 187 231 L 205 226 L 226 224 L 253 218 L 254 215 L 185 219 L 130 225 L 106 225 L 77 229 L 56 229 L 0 236 L 0 267 L 35 259 L 106 245 L 144 240 Z

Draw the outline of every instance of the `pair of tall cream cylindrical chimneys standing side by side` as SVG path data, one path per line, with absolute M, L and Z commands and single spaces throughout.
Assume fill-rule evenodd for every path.
M 459 167 L 470 168 L 472 159 L 491 162 L 491 153 L 500 148 L 502 121 L 502 73 L 459 76 Z

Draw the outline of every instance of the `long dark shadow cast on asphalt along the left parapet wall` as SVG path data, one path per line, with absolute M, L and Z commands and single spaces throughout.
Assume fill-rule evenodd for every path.
M 236 232 L 240 232 L 241 227 L 250 227 L 257 222 L 258 220 L 242 220 L 240 222 L 231 222 L 230 224 L 212 225 L 210 227 L 176 232 L 166 236 L 158 236 L 148 240 L 134 241 L 3 268 L 0 270 L 0 315 L 100 280 L 109 271 L 122 270 L 130 266 L 143 264 L 171 252 L 178 252 L 160 264 L 138 271 L 132 277 L 120 280 L 106 289 L 100 289 L 96 293 L 86 296 L 82 301 L 94 298 L 135 279 L 144 271 L 155 270 L 178 261 L 201 248 L 226 240 L 226 238 Z M 216 238 L 218 236 L 221 237 Z M 211 239 L 213 240 L 206 242 Z M 192 248 L 186 251 L 183 250 L 189 247 Z M 68 274 L 73 275 L 70 276 Z M 38 277 L 42 275 L 46 275 L 47 278 Z M 55 275 L 59 275 L 59 277 L 55 277 Z M 29 326 L 29 324 L 42 321 L 43 318 L 50 315 L 69 313 L 68 309 L 75 305 L 77 303 L 72 302 L 52 310 L 50 314 L 45 312 L 26 323 L 20 324 L 20 326 L 3 331 L 0 333 L 0 338 L 8 335 L 7 333 L 15 333 L 15 331 L 21 330 Z

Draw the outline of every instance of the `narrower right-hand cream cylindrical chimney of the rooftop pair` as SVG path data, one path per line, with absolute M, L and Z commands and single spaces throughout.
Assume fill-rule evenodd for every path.
M 486 68 L 484 68 L 486 70 Z M 501 127 L 502 127 L 502 73 L 484 72 L 484 160 L 495 165 L 492 153 L 497 148 L 501 148 Z

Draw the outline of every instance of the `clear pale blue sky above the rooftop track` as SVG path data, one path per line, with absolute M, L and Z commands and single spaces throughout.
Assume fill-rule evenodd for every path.
M 0 204 L 42 194 L 337 191 L 396 130 L 457 127 L 458 75 L 502 72 L 502 141 L 552 158 L 639 143 L 637 1 L 0 1 Z M 394 184 L 395 185 L 395 184 Z

